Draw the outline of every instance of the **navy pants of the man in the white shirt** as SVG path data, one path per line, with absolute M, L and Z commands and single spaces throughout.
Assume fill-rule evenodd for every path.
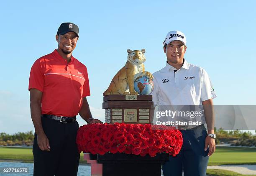
M 162 165 L 164 176 L 205 176 L 209 157 L 205 148 L 207 135 L 204 125 L 193 130 L 181 130 L 183 145 L 177 156 L 170 156 Z

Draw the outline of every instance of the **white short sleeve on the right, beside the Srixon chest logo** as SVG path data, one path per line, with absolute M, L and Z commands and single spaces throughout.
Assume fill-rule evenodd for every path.
M 202 69 L 201 70 L 201 101 L 206 101 L 208 99 L 216 98 L 215 90 L 213 89 L 212 82 L 210 77 L 208 76 L 207 72 Z

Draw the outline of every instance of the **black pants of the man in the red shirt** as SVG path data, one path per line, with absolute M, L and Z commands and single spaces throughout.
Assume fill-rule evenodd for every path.
M 42 151 L 35 133 L 33 156 L 34 176 L 77 176 L 80 155 L 77 150 L 77 121 L 63 123 L 42 117 L 44 133 L 51 151 Z

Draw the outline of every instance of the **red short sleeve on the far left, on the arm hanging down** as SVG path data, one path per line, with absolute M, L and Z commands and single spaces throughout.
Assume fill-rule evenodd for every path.
M 44 92 L 44 73 L 41 65 L 41 59 L 37 59 L 31 67 L 28 90 L 32 88 Z

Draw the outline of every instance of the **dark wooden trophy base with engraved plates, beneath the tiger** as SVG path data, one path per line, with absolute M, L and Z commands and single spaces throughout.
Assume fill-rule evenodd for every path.
M 103 97 L 106 123 L 151 123 L 152 95 L 107 95 Z

